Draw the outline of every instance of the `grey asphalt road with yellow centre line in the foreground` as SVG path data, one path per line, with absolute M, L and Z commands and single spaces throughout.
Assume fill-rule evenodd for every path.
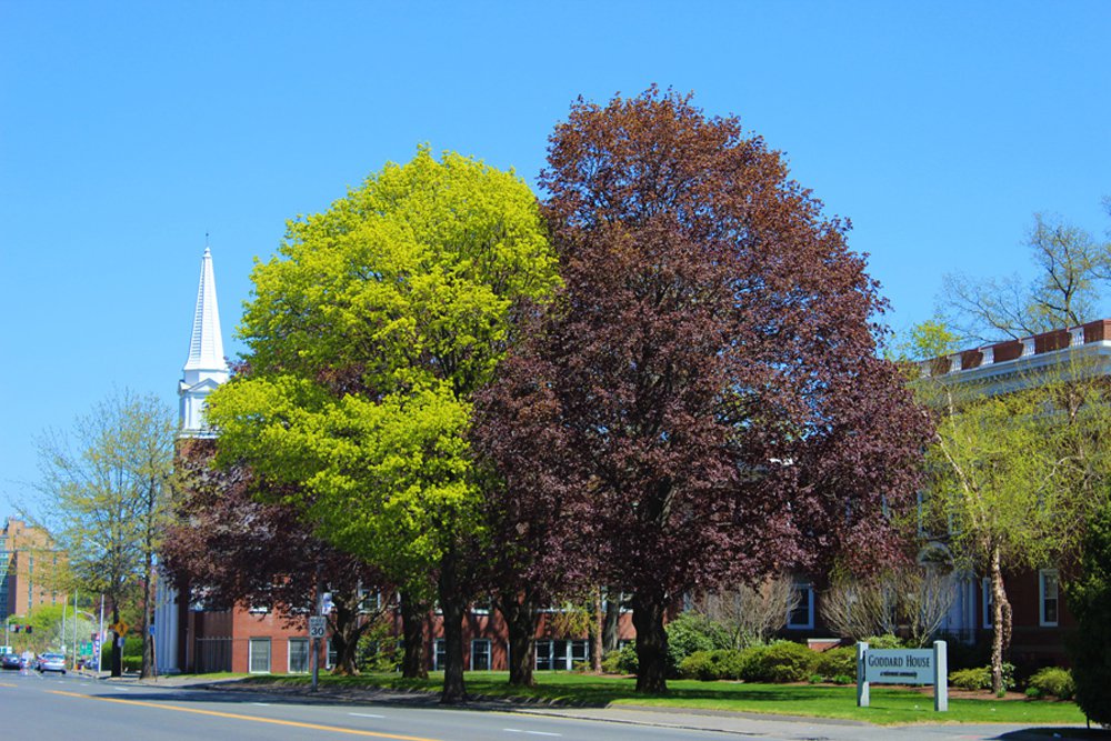
M 327 698 L 152 687 L 86 677 L 0 673 L 0 739 L 400 739 L 543 741 L 565 739 L 759 741 L 971 741 L 1088 738 L 1080 729 L 1044 732 L 1005 725 L 881 728 L 852 722 L 737 713 L 639 709 L 508 711 L 432 703 L 342 703 Z M 1108 738 L 1108 737 L 1104 737 Z

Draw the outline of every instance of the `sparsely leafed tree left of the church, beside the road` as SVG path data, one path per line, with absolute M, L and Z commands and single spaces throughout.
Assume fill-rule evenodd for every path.
M 43 524 L 68 555 L 70 585 L 104 594 L 112 622 L 138 597 L 142 675 L 153 671 L 154 558 L 169 517 L 177 419 L 153 394 L 120 391 L 39 440 Z M 112 662 L 112 675 L 122 672 Z

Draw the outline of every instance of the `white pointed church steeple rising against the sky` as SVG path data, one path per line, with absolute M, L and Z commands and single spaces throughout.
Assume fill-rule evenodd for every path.
M 197 310 L 193 312 L 193 332 L 189 340 L 189 358 L 183 378 L 178 384 L 181 397 L 182 434 L 206 435 L 204 398 L 228 380 L 228 361 L 223 357 L 223 336 L 220 333 L 220 309 L 216 301 L 216 273 L 212 271 L 212 251 L 204 248 L 201 258 L 201 279 L 197 287 Z

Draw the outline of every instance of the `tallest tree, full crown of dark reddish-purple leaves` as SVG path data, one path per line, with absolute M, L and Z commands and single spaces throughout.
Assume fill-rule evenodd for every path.
M 929 421 L 848 224 L 737 118 L 580 99 L 540 181 L 563 286 L 480 402 L 484 449 L 581 502 L 549 548 L 632 593 L 637 689 L 662 692 L 682 594 L 893 552 Z

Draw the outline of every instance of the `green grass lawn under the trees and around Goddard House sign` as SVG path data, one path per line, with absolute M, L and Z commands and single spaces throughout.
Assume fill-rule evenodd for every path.
M 1072 702 L 1045 700 L 983 699 L 949 701 L 949 711 L 933 710 L 932 693 L 902 688 L 871 688 L 871 707 L 857 707 L 857 688 L 827 684 L 745 684 L 739 682 L 698 682 L 671 680 L 667 695 L 642 695 L 628 678 L 595 677 L 569 672 L 537 672 L 537 687 L 522 690 L 506 682 L 507 672 L 468 672 L 467 691 L 487 697 L 518 697 L 560 700 L 573 704 L 641 705 L 653 708 L 697 708 L 734 712 L 841 718 L 880 724 L 901 723 L 1022 723 L 1053 725 L 1083 723 L 1084 715 Z M 304 684 L 307 677 L 272 675 L 250 681 Z M 321 687 L 383 687 L 436 691 L 443 681 L 433 673 L 427 681 L 406 680 L 398 674 L 331 677 L 321 674 Z

